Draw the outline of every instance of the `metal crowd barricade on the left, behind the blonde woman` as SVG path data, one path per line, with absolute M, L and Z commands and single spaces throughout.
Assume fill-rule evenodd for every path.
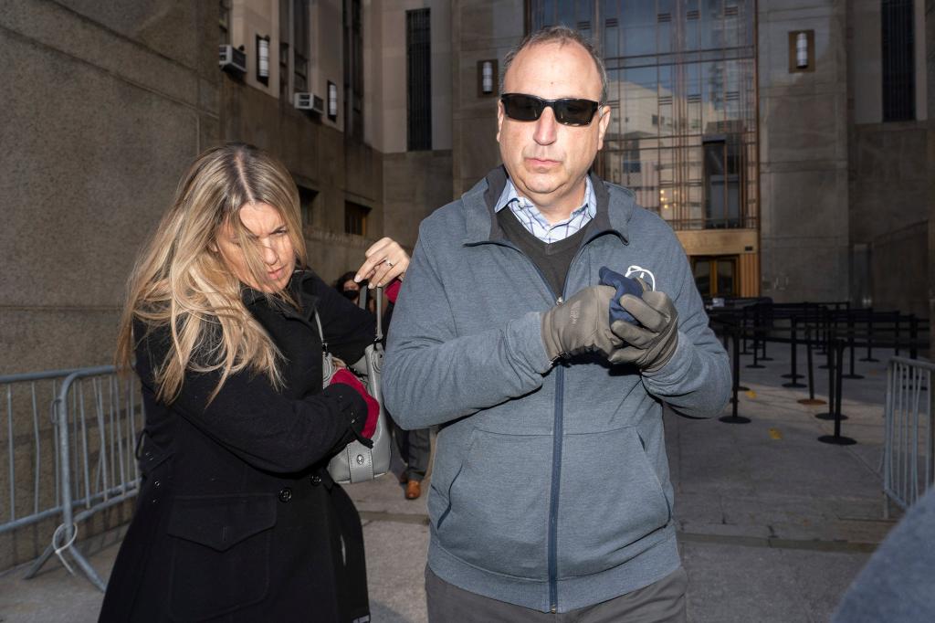
M 48 386 L 39 389 L 41 384 Z M 134 448 L 143 409 L 136 376 L 124 379 L 113 366 L 52 370 L 2 376 L 0 391 L 7 406 L 9 487 L 7 512 L 0 509 L 0 521 L 5 520 L 0 533 L 60 516 L 50 545 L 26 577 L 35 576 L 52 556 L 71 572 L 67 555 L 104 590 L 105 583 L 74 543 L 81 521 L 137 495 Z M 43 413 L 50 413 L 50 426 Z M 24 477 L 24 471 L 32 473 Z M 32 495 L 27 496 L 23 483 L 30 476 Z

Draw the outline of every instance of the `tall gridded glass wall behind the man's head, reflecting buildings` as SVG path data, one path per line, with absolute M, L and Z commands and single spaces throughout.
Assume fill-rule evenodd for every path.
M 607 65 L 605 180 L 675 229 L 757 227 L 755 0 L 528 0 L 527 11 L 530 30 L 576 28 Z

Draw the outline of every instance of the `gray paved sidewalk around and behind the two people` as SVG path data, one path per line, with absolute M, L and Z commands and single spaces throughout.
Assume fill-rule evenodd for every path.
M 861 354 L 863 355 L 863 354 Z M 883 520 L 876 473 L 883 442 L 885 358 L 858 363 L 844 381 L 843 434 L 853 446 L 816 441 L 832 424 L 827 407 L 797 402 L 807 390 L 781 386 L 788 346 L 770 345 L 766 369 L 741 368 L 740 414 L 750 424 L 666 414 L 676 517 L 689 575 L 693 623 L 827 621 L 842 592 L 894 521 Z M 804 367 L 804 349 L 800 351 Z M 751 362 L 744 356 L 742 364 Z M 823 363 L 817 358 L 815 364 Z M 801 369 L 804 373 L 804 369 Z M 818 398 L 827 371 L 815 370 Z M 728 407 L 729 413 L 729 407 Z M 424 491 L 427 491 L 427 483 Z M 387 475 L 349 491 L 365 521 L 375 623 L 425 621 L 423 571 L 428 527 L 424 497 L 403 500 Z M 82 543 L 106 576 L 120 534 Z M 56 562 L 35 580 L 24 568 L 0 575 L 0 621 L 94 621 L 101 595 Z

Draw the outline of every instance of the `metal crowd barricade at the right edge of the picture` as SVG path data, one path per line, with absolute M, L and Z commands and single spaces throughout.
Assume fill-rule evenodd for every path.
M 893 357 L 886 373 L 884 516 L 890 501 L 905 510 L 925 495 L 935 476 L 935 364 Z

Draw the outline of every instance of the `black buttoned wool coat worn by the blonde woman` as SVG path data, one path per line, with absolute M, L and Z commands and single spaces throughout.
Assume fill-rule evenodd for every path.
M 367 404 L 322 389 L 322 343 L 348 362 L 374 339 L 374 317 L 310 271 L 290 291 L 301 311 L 252 290 L 247 308 L 281 349 L 285 386 L 185 375 L 179 398 L 154 398 L 168 332 L 135 327 L 146 411 L 137 511 L 110 575 L 100 620 L 336 621 L 367 616 L 360 518 L 326 465 L 355 435 Z M 366 618 L 364 620 L 367 620 Z

